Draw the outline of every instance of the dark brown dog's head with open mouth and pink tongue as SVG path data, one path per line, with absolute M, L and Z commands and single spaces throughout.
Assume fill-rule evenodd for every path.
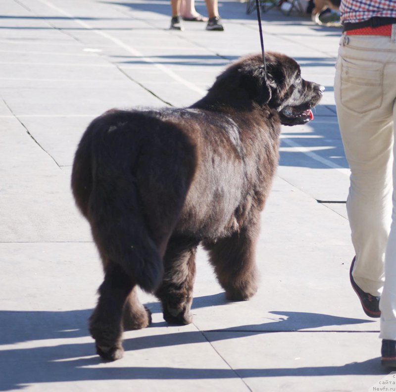
M 217 78 L 209 95 L 222 90 L 223 99 L 228 96 L 239 107 L 252 102 L 268 105 L 278 112 L 284 125 L 312 120 L 311 108 L 320 101 L 325 88 L 302 79 L 300 67 L 291 57 L 268 52 L 265 60 L 267 72 L 261 54 L 239 59 Z

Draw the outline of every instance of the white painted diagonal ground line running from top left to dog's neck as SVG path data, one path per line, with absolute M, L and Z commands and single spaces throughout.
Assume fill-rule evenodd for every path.
M 193 91 L 199 93 L 202 96 L 206 94 L 206 92 L 204 90 L 199 89 L 193 83 L 191 83 L 191 82 L 187 81 L 186 79 L 180 77 L 179 75 L 177 75 L 175 72 L 173 72 L 171 69 L 165 67 L 164 65 L 158 64 L 154 60 L 152 60 L 152 59 L 150 59 L 148 57 L 145 57 L 140 51 L 132 48 L 131 46 L 129 46 L 127 44 L 125 44 L 124 42 L 122 42 L 118 38 L 115 38 L 115 37 L 111 36 L 110 34 L 105 33 L 103 31 L 98 31 L 98 30 L 94 29 L 88 23 L 82 21 L 81 19 L 75 18 L 72 14 L 68 13 L 67 11 L 65 11 L 62 8 L 57 7 L 56 5 L 51 4 L 47 0 L 37 0 L 37 1 L 47 5 L 49 8 L 52 8 L 52 9 L 56 10 L 57 12 L 59 12 L 59 13 L 65 15 L 65 16 L 67 16 L 68 18 L 74 20 L 76 23 L 78 23 L 79 25 L 85 27 L 87 30 L 91 30 L 95 34 L 98 34 L 98 35 L 102 36 L 103 38 L 106 38 L 106 39 L 112 41 L 114 44 L 116 44 L 119 47 L 127 50 L 128 52 L 132 53 L 134 56 L 140 57 L 141 60 L 143 60 L 143 61 L 145 61 L 147 63 L 152 63 L 155 67 L 159 68 L 161 71 L 166 73 L 169 77 L 171 77 L 172 79 L 175 79 L 179 83 L 181 83 L 184 86 L 188 87 L 190 90 L 193 90 Z

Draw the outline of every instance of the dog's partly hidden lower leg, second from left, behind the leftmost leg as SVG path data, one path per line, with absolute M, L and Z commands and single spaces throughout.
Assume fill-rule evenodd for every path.
M 137 287 L 129 294 L 123 313 L 123 325 L 125 330 L 146 328 L 151 324 L 151 312 L 143 306 L 138 298 Z

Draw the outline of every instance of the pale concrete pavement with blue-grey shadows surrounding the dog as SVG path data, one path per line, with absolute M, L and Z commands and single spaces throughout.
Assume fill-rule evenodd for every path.
M 349 172 L 332 87 L 341 31 L 278 9 L 262 15 L 265 48 L 295 57 L 326 92 L 314 121 L 283 129 L 258 293 L 227 302 L 199 250 L 194 323 L 168 326 L 142 293 L 152 326 L 125 333 L 122 360 L 95 355 L 87 319 L 102 272 L 69 186 L 82 133 L 111 107 L 189 105 L 260 49 L 244 3 L 220 3 L 223 33 L 169 31 L 169 13 L 167 0 L 1 1 L 0 390 L 368 391 L 389 372 L 379 322 L 348 282 Z

